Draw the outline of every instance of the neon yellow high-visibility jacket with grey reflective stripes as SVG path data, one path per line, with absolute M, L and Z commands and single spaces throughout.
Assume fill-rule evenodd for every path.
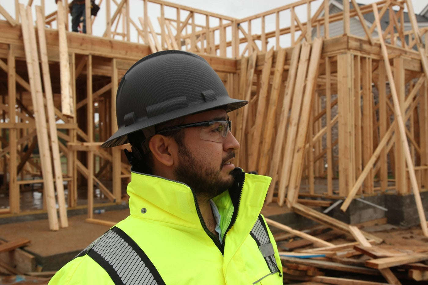
M 130 216 L 62 267 L 49 284 L 282 284 L 282 266 L 260 215 L 271 178 L 234 170 L 214 197 L 221 242 L 183 183 L 132 172 Z

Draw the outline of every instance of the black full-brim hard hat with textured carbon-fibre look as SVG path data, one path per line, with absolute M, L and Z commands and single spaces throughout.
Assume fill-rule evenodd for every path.
M 172 119 L 222 107 L 230 112 L 247 103 L 229 97 L 202 57 L 181 50 L 152 53 L 132 65 L 120 81 L 118 130 L 102 147 L 123 145 L 128 134 Z

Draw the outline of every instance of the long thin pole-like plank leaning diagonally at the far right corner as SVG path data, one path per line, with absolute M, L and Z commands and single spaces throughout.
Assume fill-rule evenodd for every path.
M 379 15 L 377 14 L 377 6 L 375 4 L 372 4 L 372 6 L 373 6 L 374 15 L 375 15 L 377 30 L 380 31 L 381 28 L 380 28 Z M 401 116 L 401 110 L 400 110 L 400 106 L 399 106 L 399 102 L 398 102 L 397 90 L 395 89 L 395 81 L 394 81 L 394 78 L 392 77 L 392 71 L 391 71 L 391 66 L 389 65 L 389 58 L 388 58 L 388 53 L 386 51 L 385 42 L 383 41 L 383 38 L 381 35 L 379 35 L 379 39 L 380 39 L 380 45 L 382 48 L 383 60 L 384 60 L 385 67 L 386 67 L 386 74 L 388 76 L 389 85 L 391 88 L 392 101 L 394 102 L 394 112 L 395 112 L 395 117 L 397 118 L 396 121 L 398 123 L 399 131 L 400 131 L 401 144 L 404 148 L 407 168 L 409 169 L 408 173 L 410 176 L 410 182 L 412 184 L 413 194 L 414 194 L 415 200 L 416 200 L 416 208 L 418 210 L 419 220 L 420 220 L 421 227 L 422 227 L 422 232 L 424 233 L 424 235 L 426 237 L 428 237 L 428 227 L 427 227 L 427 222 L 426 222 L 426 218 L 425 218 L 425 212 L 424 212 L 424 209 L 422 206 L 421 196 L 419 194 L 419 187 L 418 187 L 418 183 L 416 181 L 416 175 L 415 175 L 415 170 L 414 170 L 414 166 L 413 166 L 413 161 L 412 161 L 412 158 L 410 157 L 410 150 L 409 150 L 409 145 L 407 143 L 404 121 L 403 121 L 402 116 Z M 426 59 L 426 57 L 425 57 L 425 59 Z M 427 76 L 428 76 L 428 73 L 427 73 Z

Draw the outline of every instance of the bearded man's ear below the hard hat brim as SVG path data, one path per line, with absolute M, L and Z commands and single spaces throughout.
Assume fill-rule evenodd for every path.
M 149 141 L 149 148 L 160 163 L 165 166 L 174 164 L 174 153 L 177 145 L 172 138 L 155 134 Z

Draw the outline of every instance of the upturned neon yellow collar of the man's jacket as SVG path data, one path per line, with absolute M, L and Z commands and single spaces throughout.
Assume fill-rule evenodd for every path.
M 235 168 L 234 175 L 235 184 L 229 190 L 230 195 L 226 191 L 213 200 L 219 208 L 231 204 L 238 208 L 239 227 L 246 225 L 245 228 L 250 231 L 262 209 L 271 178 L 246 174 L 240 168 Z M 237 199 L 237 191 L 241 187 L 241 198 Z M 184 183 L 131 171 L 127 192 L 130 212 L 134 217 L 202 229 L 196 212 L 196 199 Z

